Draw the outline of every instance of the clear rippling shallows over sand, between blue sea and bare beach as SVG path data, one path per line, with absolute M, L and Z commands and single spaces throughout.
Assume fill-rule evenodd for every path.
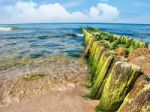
M 70 86 L 74 87 L 80 84 L 87 84 L 89 71 L 83 57 L 76 59 L 56 56 L 51 57 L 49 62 L 43 64 L 44 66 L 42 64 L 39 65 L 40 69 L 36 72 L 31 68 L 32 71 L 27 74 L 20 69 L 20 72 L 18 70 L 10 71 L 10 76 L 14 74 L 11 78 L 8 75 L 8 71 L 6 71 L 8 76 L 3 75 L 3 78 L 1 76 L 3 79 L 0 82 L 1 107 L 2 105 L 22 102 L 35 94 L 43 94 L 48 90 L 54 89 L 55 86 L 57 88 L 59 85 L 66 85 L 67 87 L 70 84 Z M 38 67 L 36 66 L 36 68 Z M 27 71 L 24 68 L 23 70 Z M 24 75 L 15 75 L 15 73 Z

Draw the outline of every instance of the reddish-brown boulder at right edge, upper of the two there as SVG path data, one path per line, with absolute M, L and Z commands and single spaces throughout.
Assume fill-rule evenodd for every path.
M 129 54 L 128 60 L 131 61 L 142 55 L 150 55 L 150 50 L 148 48 L 138 48 Z

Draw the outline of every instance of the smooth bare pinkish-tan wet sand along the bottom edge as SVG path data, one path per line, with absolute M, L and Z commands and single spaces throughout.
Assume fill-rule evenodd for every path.
M 59 89 L 5 106 L 1 108 L 1 112 L 94 112 L 98 101 L 83 98 L 82 95 L 87 93 L 85 88 Z

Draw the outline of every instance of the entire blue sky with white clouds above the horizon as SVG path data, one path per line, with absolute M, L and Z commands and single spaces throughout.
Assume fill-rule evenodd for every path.
M 150 24 L 150 0 L 0 0 L 0 24 Z

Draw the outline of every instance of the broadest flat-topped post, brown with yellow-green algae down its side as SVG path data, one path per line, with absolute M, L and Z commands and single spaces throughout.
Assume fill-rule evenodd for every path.
M 140 68 L 134 64 L 116 62 L 106 80 L 97 109 L 116 111 L 140 73 Z

